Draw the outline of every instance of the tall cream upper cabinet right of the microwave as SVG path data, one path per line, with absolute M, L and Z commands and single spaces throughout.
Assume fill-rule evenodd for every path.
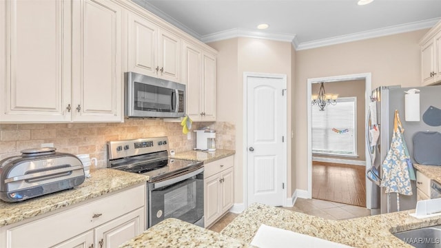
M 183 83 L 187 115 L 193 121 L 216 121 L 216 56 L 183 43 Z

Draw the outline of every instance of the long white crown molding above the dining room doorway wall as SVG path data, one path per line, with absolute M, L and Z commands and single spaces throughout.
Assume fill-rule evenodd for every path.
M 407 23 L 402 25 L 394 25 L 387 28 L 378 28 L 376 30 L 369 30 L 366 32 L 358 32 L 354 34 L 342 35 L 339 37 L 332 37 L 329 39 L 320 39 L 317 41 L 309 41 L 299 43 L 297 46 L 294 46 L 297 51 L 299 50 L 307 50 L 311 48 L 320 48 L 327 45 L 336 45 L 340 43 L 347 43 L 352 41 L 361 41 L 364 39 L 371 39 L 376 37 L 384 37 L 392 34 L 400 34 L 404 32 L 411 32 L 416 30 L 422 30 L 425 28 L 432 28 L 441 18 L 429 19 L 425 21 L 417 21 L 413 23 Z

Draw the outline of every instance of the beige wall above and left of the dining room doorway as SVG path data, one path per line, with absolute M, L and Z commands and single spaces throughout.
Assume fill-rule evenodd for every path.
M 296 53 L 296 116 L 307 116 L 307 79 L 371 72 L 372 88 L 419 85 L 420 47 L 427 30 L 367 39 Z M 296 118 L 296 188 L 307 190 L 307 119 Z

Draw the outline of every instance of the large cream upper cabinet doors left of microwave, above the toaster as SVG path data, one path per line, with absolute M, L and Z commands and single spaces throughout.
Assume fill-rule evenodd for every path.
M 1 1 L 0 122 L 123 121 L 122 10 L 106 0 Z

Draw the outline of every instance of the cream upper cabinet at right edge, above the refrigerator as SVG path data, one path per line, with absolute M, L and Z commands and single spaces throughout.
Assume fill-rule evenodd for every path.
M 441 22 L 435 25 L 420 41 L 421 84 L 431 85 L 441 81 Z

